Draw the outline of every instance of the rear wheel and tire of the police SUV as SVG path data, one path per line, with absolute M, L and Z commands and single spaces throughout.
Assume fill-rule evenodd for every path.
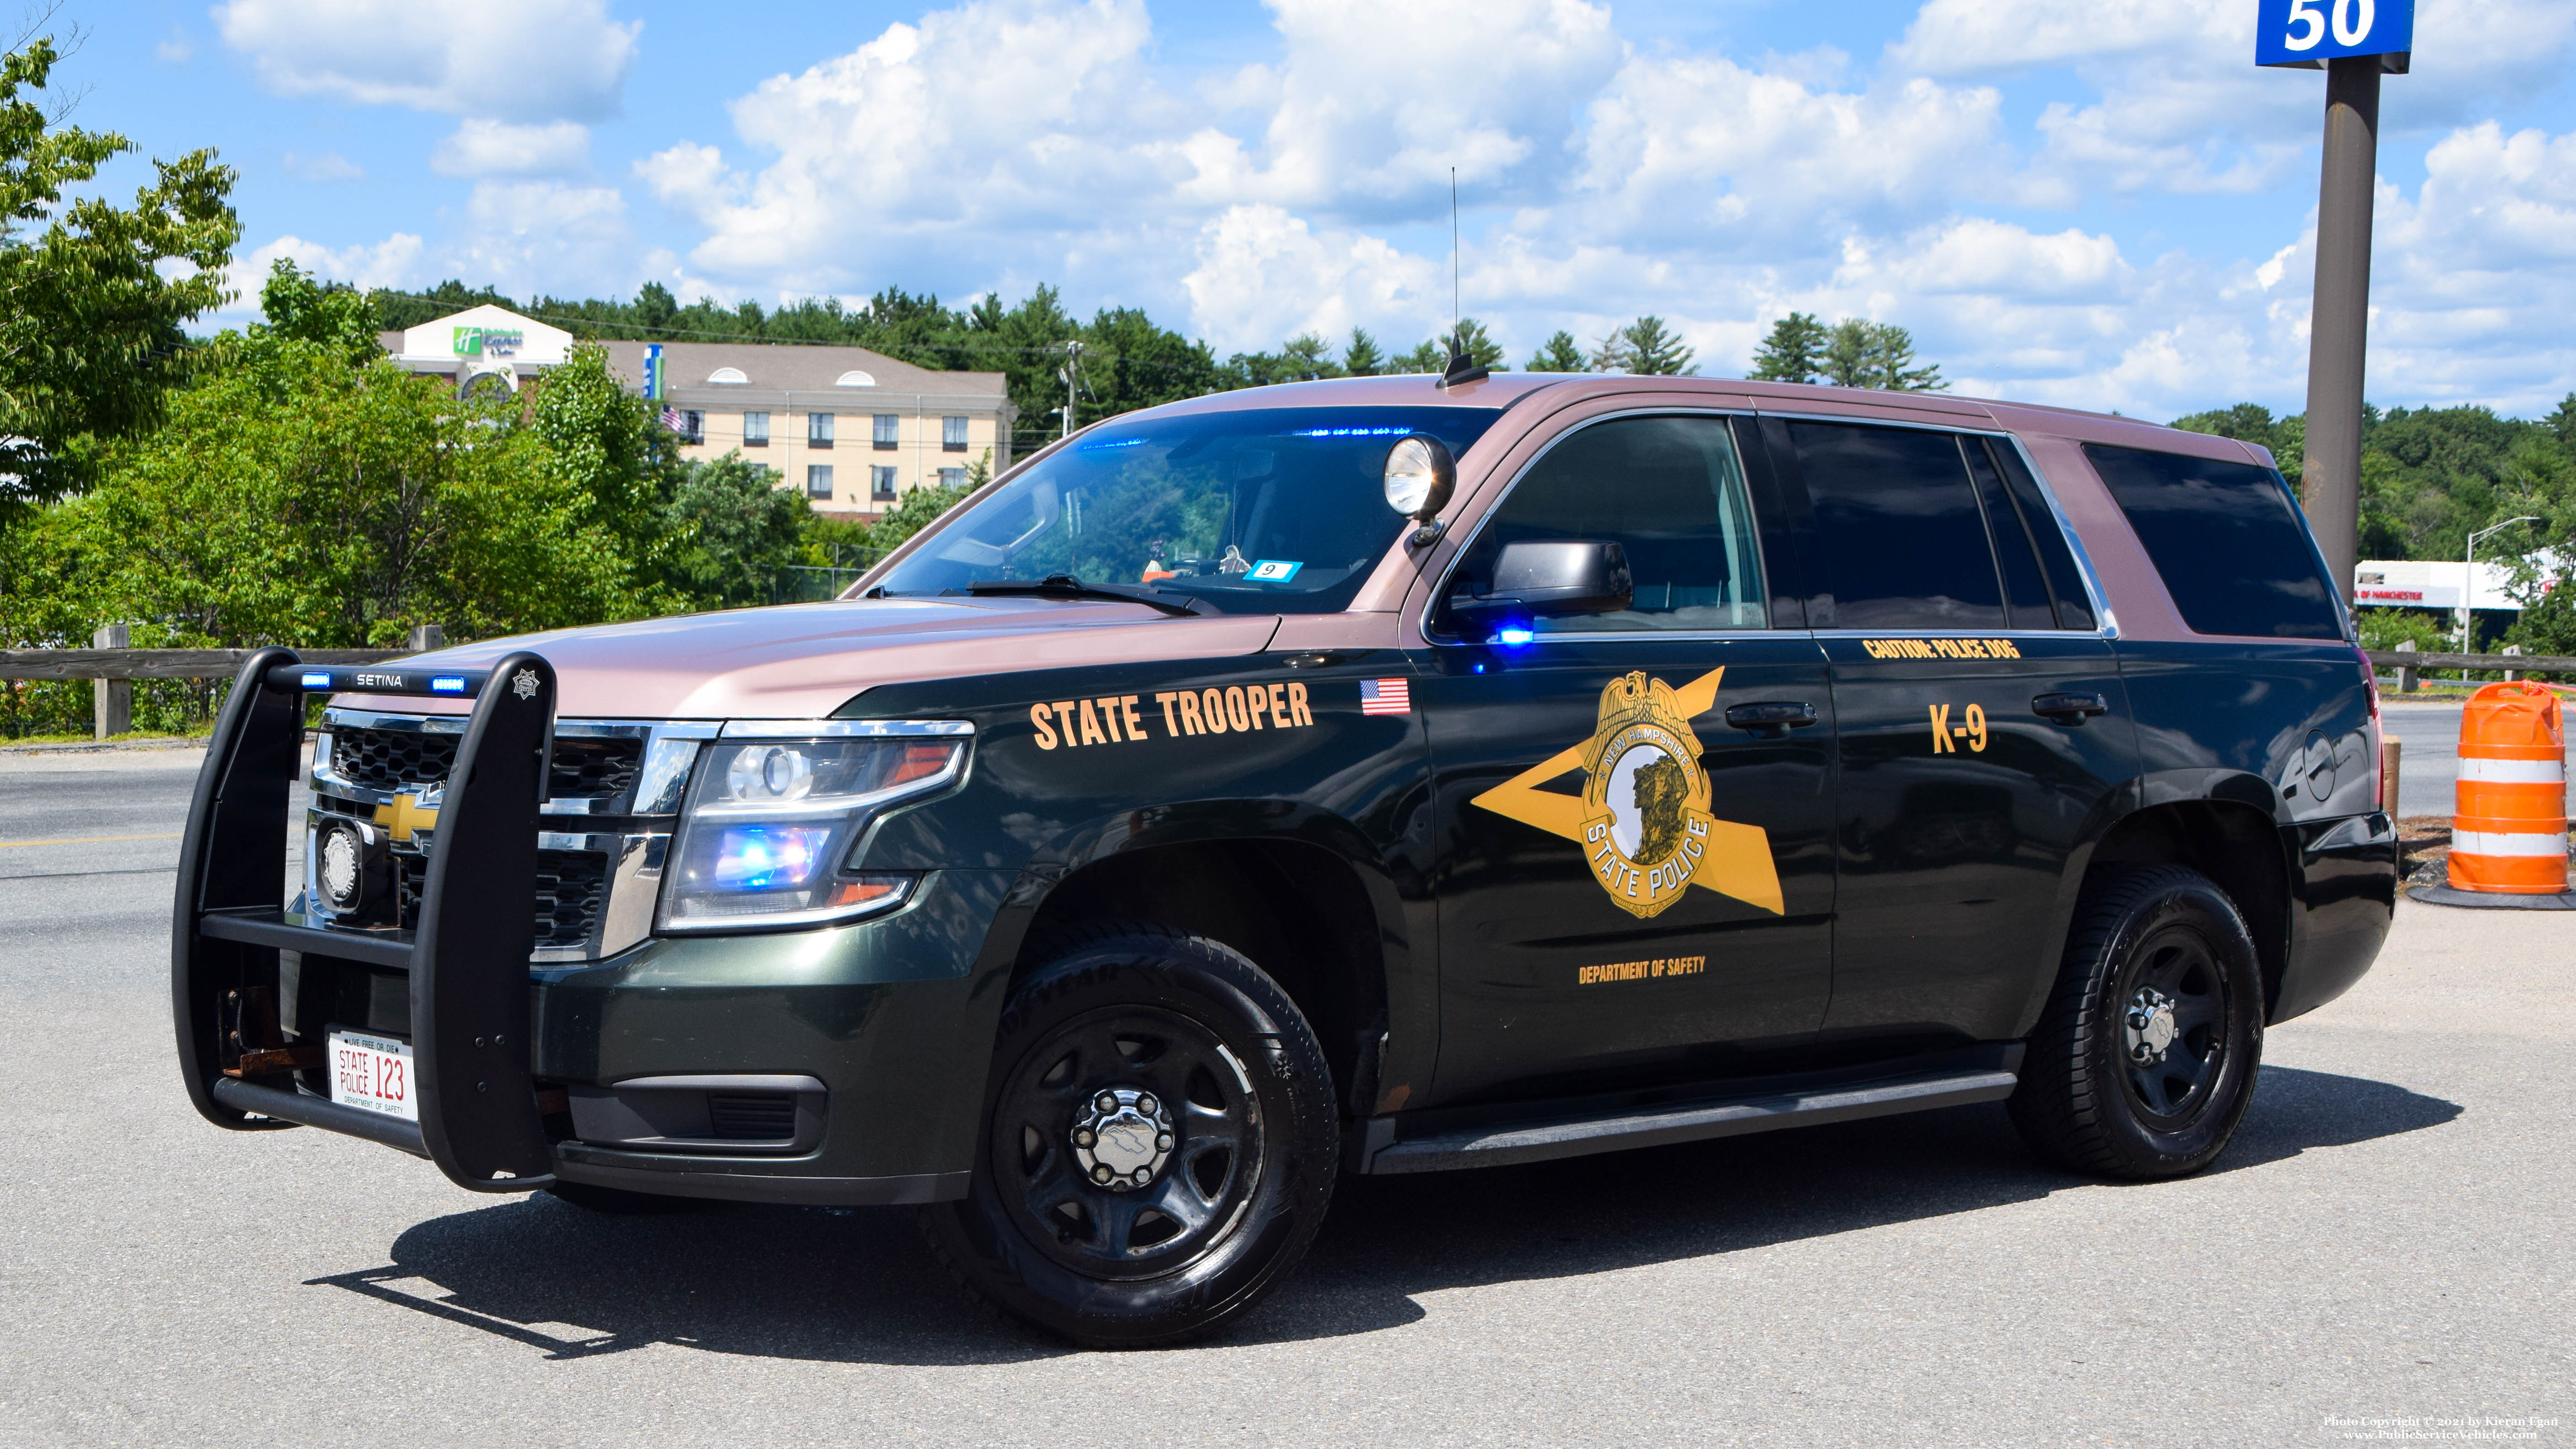
M 2262 968 L 2226 891 L 2174 865 L 2084 885 L 2012 1125 L 2066 1168 L 2148 1181 L 2226 1150 L 2262 1066 Z

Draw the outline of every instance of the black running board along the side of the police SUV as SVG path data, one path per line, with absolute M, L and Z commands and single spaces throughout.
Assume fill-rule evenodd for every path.
M 2014 1053 L 2014 1063 L 2020 1053 Z M 1399 1174 L 1499 1168 L 1512 1163 L 1543 1163 L 1551 1158 L 1579 1158 L 1589 1153 L 1618 1153 L 1625 1148 L 1698 1143 L 1703 1138 L 1736 1138 L 1741 1132 L 1770 1132 L 1775 1127 L 1857 1122 L 1860 1117 L 1893 1117 L 1899 1112 L 1932 1112 L 1935 1107 L 2002 1102 L 2004 1096 L 2012 1096 L 2014 1081 L 2020 1078 L 2009 1068 L 1950 1068 L 1850 1086 L 1819 1086 L 1808 1091 L 1775 1091 L 1718 1102 L 1682 1102 L 1646 1112 L 1620 1112 L 1615 1117 L 1471 1127 L 1388 1143 L 1370 1153 L 1360 1171 Z

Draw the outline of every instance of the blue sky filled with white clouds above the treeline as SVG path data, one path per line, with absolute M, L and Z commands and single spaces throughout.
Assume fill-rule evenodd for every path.
M 2391 5 L 2398 0 L 2378 0 Z M 1517 365 L 1788 311 L 1955 391 L 2298 412 L 2321 72 L 2254 0 L 67 0 L 75 124 L 240 167 L 273 257 L 510 296 L 966 304 L 1038 283 L 1218 355 L 1458 293 Z M 2419 0 L 2380 106 L 2370 399 L 2576 391 L 2576 0 Z

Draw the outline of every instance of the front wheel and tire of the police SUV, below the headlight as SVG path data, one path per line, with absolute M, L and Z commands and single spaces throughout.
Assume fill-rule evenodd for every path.
M 1337 1145 L 1324 1048 L 1262 968 L 1095 927 L 1002 1006 L 974 1184 L 922 1233 L 1012 1318 L 1090 1349 L 1172 1343 L 1296 1269 Z

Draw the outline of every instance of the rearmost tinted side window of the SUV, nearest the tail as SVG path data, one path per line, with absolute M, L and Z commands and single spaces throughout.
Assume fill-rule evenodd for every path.
M 2192 633 L 2342 638 L 2308 525 L 2272 468 L 2087 443 Z

